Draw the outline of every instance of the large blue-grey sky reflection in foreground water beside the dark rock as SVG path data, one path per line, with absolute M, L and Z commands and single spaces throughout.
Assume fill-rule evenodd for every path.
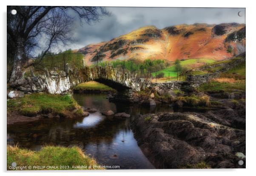
M 85 147 L 85 152 L 100 164 L 120 165 L 121 169 L 154 168 L 140 150 L 131 130 L 120 130 L 111 143 L 89 143 Z

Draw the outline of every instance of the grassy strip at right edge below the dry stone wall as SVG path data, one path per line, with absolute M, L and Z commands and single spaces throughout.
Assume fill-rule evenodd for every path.
M 199 87 L 199 91 L 209 93 L 233 92 L 234 90 L 245 91 L 245 81 L 240 80 L 235 83 L 211 81 Z

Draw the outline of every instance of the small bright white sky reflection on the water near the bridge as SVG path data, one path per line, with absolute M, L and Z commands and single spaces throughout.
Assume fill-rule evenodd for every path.
M 100 112 L 91 113 L 88 117 L 85 117 L 82 122 L 77 122 L 74 124 L 74 128 L 92 128 L 100 123 L 105 117 L 100 114 Z

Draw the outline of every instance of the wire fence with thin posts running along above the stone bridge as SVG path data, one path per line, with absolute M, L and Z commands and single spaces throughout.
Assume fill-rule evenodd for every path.
M 129 60 L 121 60 L 117 58 L 111 58 L 110 55 L 99 52 L 99 51 L 94 51 L 94 52 L 80 52 L 80 53 L 72 53 L 72 52 L 63 52 L 59 54 L 47 54 L 34 58 L 28 58 L 27 60 L 27 71 L 25 73 L 25 76 L 32 76 L 32 73 L 40 74 L 44 72 L 44 69 L 47 68 L 48 70 L 63 70 L 65 71 L 65 65 L 68 63 L 68 67 L 71 69 L 75 68 L 82 68 L 85 67 L 85 62 L 84 62 L 84 55 L 88 53 L 95 53 L 94 55 L 94 64 L 99 65 L 99 66 L 106 66 L 106 64 L 113 64 L 113 61 L 118 61 L 118 64 L 113 65 L 117 71 L 125 74 L 128 73 L 134 77 L 137 78 L 146 78 L 146 79 L 151 79 L 154 82 L 161 81 L 161 82 L 166 82 L 170 81 L 173 79 L 173 77 L 170 76 L 170 72 L 166 71 L 168 73 L 168 77 L 164 77 L 163 81 L 161 80 L 162 77 L 158 71 L 164 72 L 162 68 L 160 69 L 152 69 L 151 67 L 145 68 L 141 64 L 138 63 L 133 63 L 132 61 Z M 107 60 L 110 60 L 109 62 L 103 61 L 102 60 L 102 55 L 104 57 L 108 57 Z M 168 65 L 171 65 L 171 61 L 165 60 L 165 62 L 168 62 Z M 154 74 L 153 74 L 154 73 Z M 159 76 L 160 75 L 160 76 Z M 165 74 L 166 75 L 166 74 Z M 178 74 L 177 74 L 177 80 L 178 80 Z

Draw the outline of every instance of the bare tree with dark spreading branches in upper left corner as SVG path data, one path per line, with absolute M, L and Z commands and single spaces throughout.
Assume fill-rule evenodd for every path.
M 12 9 L 16 15 L 10 13 Z M 74 19 L 90 24 L 108 14 L 102 7 L 7 6 L 7 42 L 14 50 L 10 85 L 22 84 L 27 58 L 40 42 L 45 44 L 43 58 L 51 48 L 71 41 Z

